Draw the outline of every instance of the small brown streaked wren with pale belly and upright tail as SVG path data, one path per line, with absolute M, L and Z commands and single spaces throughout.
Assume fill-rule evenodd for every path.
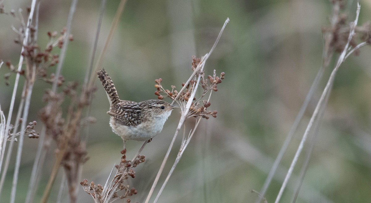
M 107 112 L 111 116 L 109 124 L 112 131 L 121 136 L 124 141 L 124 150 L 126 150 L 125 144 L 128 140 L 151 142 L 152 138 L 162 131 L 174 107 L 177 107 L 177 105 L 157 99 L 138 103 L 121 100 L 106 70 L 99 69 L 97 75 L 106 90 L 110 103 Z

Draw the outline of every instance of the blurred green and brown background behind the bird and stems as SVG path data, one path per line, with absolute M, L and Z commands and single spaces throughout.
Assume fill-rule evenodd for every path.
M 6 11 L 26 10 L 30 3 L 24 0 L 4 1 L 4 7 Z M 62 69 L 66 81 L 83 83 L 98 23 L 99 4 L 98 0 L 78 2 L 71 31 L 74 40 L 69 43 Z M 107 1 L 98 54 L 118 4 L 118 0 Z M 351 20 L 355 17 L 355 4 L 356 1 L 345 3 L 345 13 Z M 41 2 L 40 47 L 46 46 L 47 31 L 60 31 L 65 26 L 69 6 L 70 1 Z M 127 2 L 103 66 L 111 75 L 121 99 L 136 102 L 156 98 L 154 80 L 158 78 L 163 79 L 164 87 L 175 85 L 180 89 L 181 83 L 191 74 L 191 56 L 206 54 L 224 21 L 230 18 L 205 66 L 206 75 L 212 74 L 213 69 L 217 73 L 226 73 L 226 79 L 218 85 L 219 91 L 211 97 L 210 110 L 217 110 L 218 117 L 201 122 L 160 202 L 255 202 L 257 194 L 250 191 L 262 188 L 267 172 L 321 66 L 321 28 L 329 24 L 331 6 L 329 1 L 322 0 Z M 371 1 L 361 1 L 361 6 L 359 24 L 371 20 Z M 16 65 L 20 46 L 13 43 L 16 34 L 11 26 L 17 27 L 18 22 L 10 15 L 1 14 L 0 59 L 11 60 Z M 297 200 L 299 203 L 371 201 L 370 54 L 370 47 L 364 47 L 359 56 L 349 57 L 339 69 Z M 336 54 L 334 59 L 337 57 Z M 334 67 L 334 61 L 330 69 Z M 52 73 L 55 68 L 49 71 Z M 2 66 L 1 78 L 5 73 L 8 73 L 7 67 Z M 274 202 L 278 194 L 329 73 L 329 70 L 325 71 L 324 81 L 309 104 L 267 190 L 269 203 Z M 14 75 L 10 86 L 0 83 L 0 103 L 6 115 L 13 84 Z M 83 166 L 82 179 L 104 184 L 112 166 L 119 162 L 122 140 L 109 127 L 109 115 L 106 114 L 109 103 L 98 79 L 95 84 L 98 91 L 93 99 L 91 116 L 97 122 L 89 127 L 87 148 L 90 159 Z M 42 97 L 47 88 L 50 85 L 44 81 L 36 82 L 30 121 L 39 121 L 38 112 L 45 105 Z M 180 114 L 174 111 L 162 133 L 142 152 L 146 155 L 146 162 L 136 168 L 136 177 L 130 182 L 138 190 L 138 194 L 131 198 L 132 202 L 144 202 L 179 118 Z M 189 119 L 187 130 L 193 125 L 194 119 Z M 39 122 L 36 130 L 40 130 L 41 126 Z M 178 138 L 165 171 L 170 169 L 179 149 L 181 136 Z M 37 144 L 37 139 L 25 140 L 16 202 L 24 202 Z M 134 156 L 141 144 L 128 142 L 128 156 Z M 289 202 L 292 198 L 304 153 L 299 157 L 281 202 Z M 14 151 L 0 202 L 9 202 L 15 154 Z M 51 150 L 35 202 L 41 198 L 53 159 Z M 60 170 L 49 202 L 56 199 L 62 173 Z M 164 176 L 160 183 L 163 179 Z M 63 203 L 69 201 L 66 191 L 65 195 Z M 78 202 L 93 200 L 81 189 Z

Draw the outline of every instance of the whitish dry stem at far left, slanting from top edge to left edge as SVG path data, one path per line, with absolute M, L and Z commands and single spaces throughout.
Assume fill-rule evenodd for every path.
M 32 0 L 30 14 L 29 14 L 29 17 L 28 17 L 28 20 L 27 20 L 26 31 L 24 32 L 23 46 L 22 46 L 22 49 L 21 49 L 21 53 L 24 51 L 24 46 L 27 45 L 27 40 L 28 40 L 28 35 L 30 33 L 30 25 L 32 23 L 32 17 L 33 17 L 33 12 L 35 10 L 35 5 L 36 5 L 36 0 Z M 7 134 L 7 132 L 9 132 L 9 129 L 10 129 L 10 120 L 12 120 L 14 102 L 16 100 L 16 93 L 17 93 L 19 77 L 20 77 L 19 73 L 21 71 L 22 64 L 23 64 L 23 56 L 22 56 L 22 54 L 20 54 L 18 69 L 17 69 L 17 74 L 16 74 L 16 80 L 14 82 L 12 99 L 10 100 L 9 113 L 8 113 L 8 118 L 7 118 L 7 121 L 6 121 L 6 128 L 5 128 L 5 133 L 6 134 Z M 1 153 L 0 154 L 0 172 L 1 172 L 1 167 L 2 167 L 2 164 L 3 164 L 5 146 L 6 146 L 6 137 L 4 137 L 4 139 L 3 139 L 3 144 L 0 145 L 0 153 Z

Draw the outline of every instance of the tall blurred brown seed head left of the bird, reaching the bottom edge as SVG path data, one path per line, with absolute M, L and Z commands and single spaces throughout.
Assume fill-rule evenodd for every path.
M 79 170 L 88 160 L 86 143 L 81 140 L 80 129 L 87 122 L 95 122 L 91 117 L 81 118 L 81 111 L 90 104 L 96 88 L 84 89 L 82 93 L 77 89 L 78 83 L 70 82 L 61 93 L 47 90 L 43 99 L 48 104 L 39 113 L 46 127 L 46 136 L 55 141 L 56 152 L 63 154 L 60 164 L 66 172 L 71 202 L 76 200 L 75 186 L 79 183 Z M 65 114 L 61 104 L 66 97 L 70 104 Z

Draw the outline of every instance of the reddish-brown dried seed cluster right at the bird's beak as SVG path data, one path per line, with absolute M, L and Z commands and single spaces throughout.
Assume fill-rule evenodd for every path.
M 198 64 L 200 63 L 201 59 L 196 58 L 196 56 L 192 56 L 192 66 L 191 69 L 194 71 L 196 70 Z M 164 99 L 164 98 L 171 98 L 175 100 L 180 106 L 185 106 L 185 103 L 188 101 L 188 98 L 190 97 L 193 88 L 196 84 L 196 77 L 201 76 L 200 79 L 200 84 L 201 87 L 203 88 L 203 93 L 201 94 L 200 98 L 196 99 L 196 97 L 193 98 L 194 102 L 192 103 L 188 116 L 189 117 L 197 117 L 197 116 L 202 116 L 205 119 L 209 119 L 210 116 L 216 118 L 216 114 L 218 113 L 217 111 L 209 111 L 207 110 L 208 107 L 210 107 L 210 97 L 207 100 L 201 100 L 207 93 L 212 91 L 218 91 L 217 89 L 217 84 L 221 83 L 224 79 L 224 72 L 220 73 L 220 77 L 216 76 L 216 71 L 214 70 L 213 76 L 207 76 L 207 79 L 204 78 L 205 74 L 203 71 L 198 71 L 196 73 L 196 76 L 194 80 L 191 80 L 189 84 L 185 87 L 184 91 L 179 93 L 175 89 L 175 86 L 171 86 L 171 91 L 168 89 L 164 89 L 161 85 L 162 79 L 156 79 L 155 80 L 155 88 L 157 89 L 155 91 L 155 95 L 157 95 L 158 99 Z M 184 87 L 185 83 L 182 83 L 182 87 Z M 165 95 L 161 94 L 165 93 Z

